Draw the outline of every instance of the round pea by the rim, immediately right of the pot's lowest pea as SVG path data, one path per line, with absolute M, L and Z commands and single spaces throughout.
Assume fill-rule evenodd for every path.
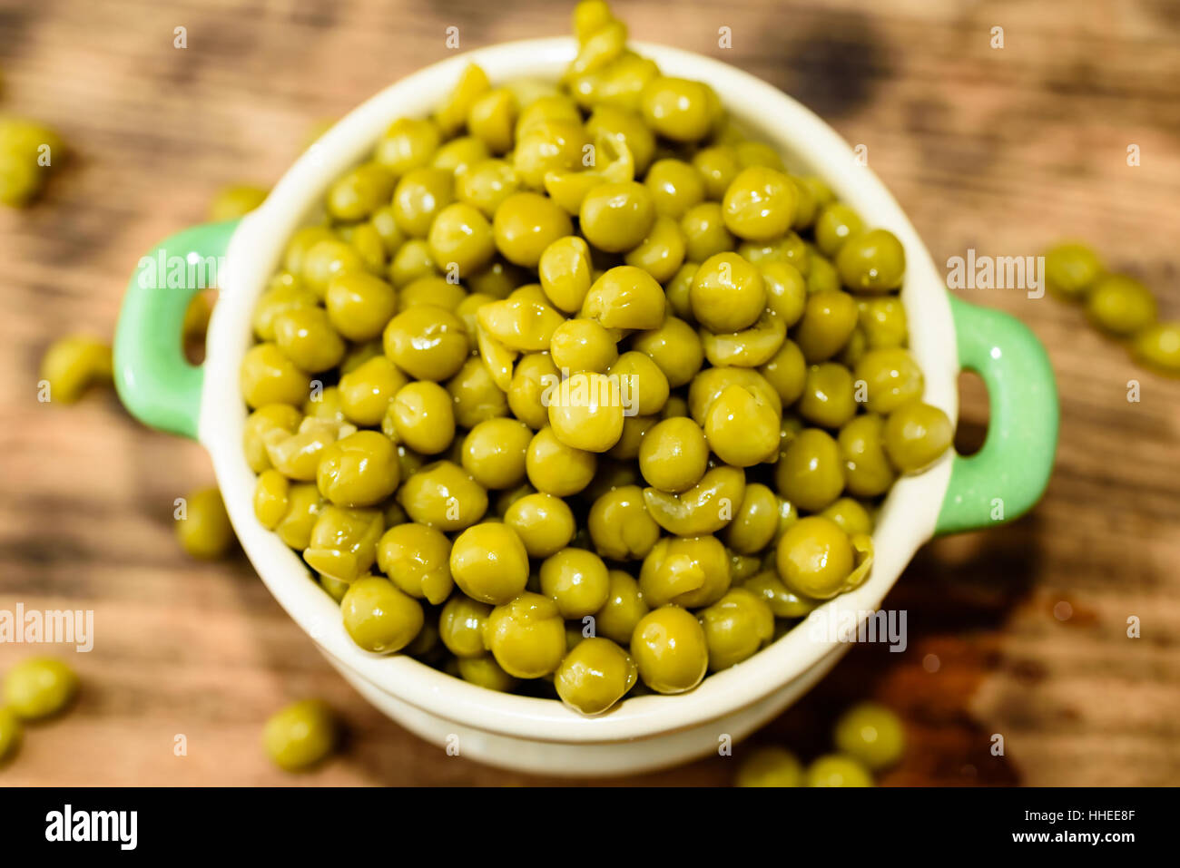
M 701 683 L 709 666 L 704 629 L 680 606 L 656 609 L 635 626 L 631 658 L 651 690 L 683 693 Z

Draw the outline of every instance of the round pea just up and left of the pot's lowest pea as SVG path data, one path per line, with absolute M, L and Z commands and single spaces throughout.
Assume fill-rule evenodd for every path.
M 492 610 L 484 644 L 509 675 L 540 678 L 565 657 L 565 622 L 549 597 L 525 592 Z

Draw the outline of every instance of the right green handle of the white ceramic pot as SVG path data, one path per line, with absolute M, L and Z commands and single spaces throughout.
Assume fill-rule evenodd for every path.
M 950 296 L 959 367 L 988 387 L 983 448 L 955 455 L 936 534 L 991 527 L 1023 515 L 1049 484 L 1057 452 L 1057 383 L 1036 335 L 1014 316 Z

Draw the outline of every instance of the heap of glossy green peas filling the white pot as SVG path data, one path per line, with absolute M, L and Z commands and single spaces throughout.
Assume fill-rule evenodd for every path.
M 573 25 L 559 83 L 468 66 L 330 185 L 241 389 L 255 513 L 361 647 L 595 715 L 863 583 L 952 426 L 899 241 L 605 4 Z

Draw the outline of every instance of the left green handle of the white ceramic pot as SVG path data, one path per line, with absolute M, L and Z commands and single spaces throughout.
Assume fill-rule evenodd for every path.
M 144 425 L 197 439 L 204 370 L 184 357 L 184 314 L 215 285 L 240 219 L 205 223 L 165 238 L 139 259 L 114 329 L 114 387 Z

